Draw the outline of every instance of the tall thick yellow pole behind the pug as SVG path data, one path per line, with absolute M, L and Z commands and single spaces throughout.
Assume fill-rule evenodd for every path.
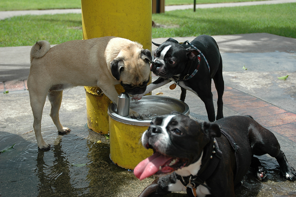
M 151 0 L 81 0 L 83 39 L 118 36 L 137 41 L 151 51 Z M 124 92 L 118 85 L 117 92 Z M 101 134 L 109 132 L 110 100 L 97 87 L 85 87 L 87 125 Z

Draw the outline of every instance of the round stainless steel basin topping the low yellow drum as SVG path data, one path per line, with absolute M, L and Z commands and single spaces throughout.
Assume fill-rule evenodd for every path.
M 161 116 L 173 111 L 189 115 L 188 105 L 178 99 L 165 96 L 144 96 L 141 100 L 130 100 L 130 108 L 140 114 L 140 118 L 133 119 L 129 116 L 119 116 L 117 106 L 111 103 L 108 107 L 109 116 L 124 124 L 149 126 L 155 116 Z

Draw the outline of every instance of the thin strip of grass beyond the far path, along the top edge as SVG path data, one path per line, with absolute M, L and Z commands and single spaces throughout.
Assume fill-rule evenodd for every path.
M 226 3 L 259 0 L 196 0 L 197 4 Z M 165 0 L 165 5 L 193 4 L 193 0 Z M 1 0 L 0 11 L 29 9 L 68 9 L 81 8 L 81 0 Z

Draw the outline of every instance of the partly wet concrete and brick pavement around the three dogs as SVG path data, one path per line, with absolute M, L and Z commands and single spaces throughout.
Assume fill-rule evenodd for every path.
M 288 161 L 296 166 L 296 39 L 267 33 L 213 36 L 223 58 L 224 116 L 251 115 L 278 138 Z M 191 41 L 194 37 L 175 38 Z M 153 39 L 162 43 L 165 38 Z M 72 129 L 58 135 L 44 106 L 42 135 L 52 144 L 49 151 L 37 149 L 33 115 L 26 78 L 30 67 L 29 47 L 0 48 L 0 194 L 2 196 L 137 196 L 153 178 L 137 180 L 132 172 L 114 165 L 109 158 L 109 140 L 86 127 L 83 87 L 64 91 L 60 120 Z M 152 46 L 152 50 L 156 47 Z M 247 70 L 243 69 L 243 66 Z M 286 80 L 277 77 L 289 75 Z M 152 81 L 157 77 L 153 76 Z M 179 98 L 180 89 L 170 84 L 156 89 L 163 96 Z M 217 94 L 212 86 L 214 101 Z M 187 92 L 190 117 L 207 121 L 203 102 Z M 215 103 L 216 107 L 216 103 Z M 101 140 L 101 143 L 96 143 Z M 250 174 L 237 196 L 296 196 L 296 185 L 279 177 L 278 165 L 269 156 L 260 157 L 270 173 L 267 182 Z M 85 165 L 84 165 L 85 164 Z M 2 197 L 1 196 L 1 197 Z M 184 196 L 175 193 L 168 196 Z

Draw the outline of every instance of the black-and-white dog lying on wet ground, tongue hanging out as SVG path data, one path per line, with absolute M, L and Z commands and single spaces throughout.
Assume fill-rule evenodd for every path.
M 280 175 L 296 180 L 276 137 L 251 116 L 230 116 L 213 123 L 197 122 L 172 113 L 158 116 L 143 133 L 142 145 L 154 154 L 134 169 L 140 180 L 157 176 L 140 197 L 187 191 L 189 196 L 234 197 L 250 166 L 259 180 L 266 169 L 258 158 L 269 154 L 279 163 Z

